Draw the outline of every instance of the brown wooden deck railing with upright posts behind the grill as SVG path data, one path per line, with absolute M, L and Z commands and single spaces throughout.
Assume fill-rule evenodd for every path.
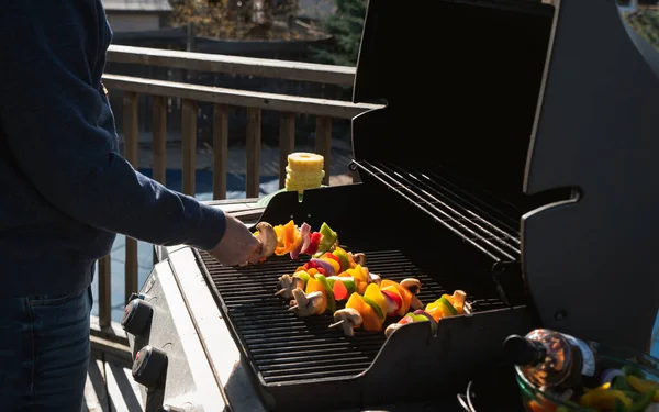
M 313 81 L 327 85 L 350 86 L 355 68 L 305 64 L 299 62 L 270 60 L 236 56 L 210 55 L 189 52 L 174 52 L 130 46 L 110 47 L 108 58 L 113 63 L 163 66 L 188 70 L 249 75 L 263 78 Z M 347 101 L 316 99 L 236 90 L 192 83 L 163 81 L 148 78 L 107 74 L 103 82 L 108 89 L 123 92 L 124 156 L 138 166 L 138 96 L 153 98 L 153 177 L 165 183 L 167 142 L 167 98 L 182 100 L 182 191 L 194 196 L 196 148 L 198 102 L 213 104 L 213 199 L 226 198 L 226 160 L 228 153 L 228 107 L 247 110 L 246 131 L 246 197 L 258 197 L 259 165 L 261 146 L 261 110 L 280 113 L 279 129 L 279 183 L 283 187 L 287 156 L 294 147 L 295 114 L 316 116 L 315 149 L 325 157 L 325 183 L 330 179 L 332 119 L 351 119 L 355 115 L 377 109 L 375 104 L 354 104 Z M 126 238 L 125 247 L 125 299 L 138 288 L 137 285 L 137 242 Z M 99 263 L 99 323 L 108 326 L 111 322 L 111 274 L 109 256 Z

